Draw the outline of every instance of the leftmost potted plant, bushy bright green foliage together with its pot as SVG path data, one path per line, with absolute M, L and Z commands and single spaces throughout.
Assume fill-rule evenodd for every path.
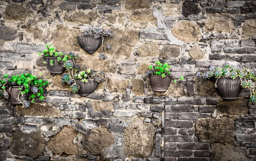
M 45 87 L 49 84 L 47 80 L 38 79 L 29 73 L 8 77 L 9 75 L 4 75 L 0 79 L 0 95 L 4 98 L 12 100 L 15 104 L 23 104 L 25 107 L 29 107 L 29 101 L 34 103 L 44 100 Z

